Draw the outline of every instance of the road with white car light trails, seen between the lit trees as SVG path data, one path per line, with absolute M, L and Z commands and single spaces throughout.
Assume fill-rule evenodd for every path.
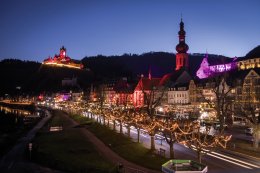
M 111 124 L 111 128 L 112 126 Z M 116 130 L 119 132 L 118 126 Z M 123 128 L 123 133 L 127 133 L 126 128 Z M 133 140 L 137 140 L 137 132 L 134 128 L 131 129 L 131 137 Z M 157 137 L 160 138 L 159 135 Z M 140 141 L 145 147 L 150 148 L 149 135 L 141 134 Z M 156 140 L 156 148 L 165 149 L 166 156 L 169 157 L 169 146 L 164 140 Z M 183 145 L 175 144 L 174 149 L 175 158 L 197 160 L 196 153 Z M 202 157 L 202 163 L 208 165 L 209 173 L 260 173 L 259 159 L 228 150 L 212 152 L 205 155 Z

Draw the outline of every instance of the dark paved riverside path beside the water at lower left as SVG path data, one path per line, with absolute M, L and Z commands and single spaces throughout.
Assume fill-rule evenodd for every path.
M 59 173 L 59 171 L 30 163 L 24 156 L 24 152 L 27 149 L 29 142 L 34 138 L 36 132 L 51 118 L 51 114 L 48 111 L 46 111 L 46 115 L 46 117 L 42 118 L 26 136 L 19 139 L 17 144 L 3 156 L 2 160 L 0 160 L 1 173 Z

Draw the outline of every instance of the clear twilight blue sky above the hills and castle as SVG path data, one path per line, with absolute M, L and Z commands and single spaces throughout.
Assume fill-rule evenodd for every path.
M 92 55 L 175 53 L 182 13 L 189 53 L 244 56 L 260 44 L 260 0 L 0 0 L 0 60 L 41 62 L 64 45 Z

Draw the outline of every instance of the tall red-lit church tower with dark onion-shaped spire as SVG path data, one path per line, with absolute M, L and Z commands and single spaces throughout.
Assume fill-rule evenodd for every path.
M 189 61 L 188 61 L 188 54 L 187 51 L 189 50 L 189 46 L 185 43 L 185 35 L 186 32 L 184 31 L 184 23 L 180 22 L 180 31 L 179 34 L 179 44 L 176 46 L 176 68 L 175 70 L 180 70 L 181 68 L 188 68 Z

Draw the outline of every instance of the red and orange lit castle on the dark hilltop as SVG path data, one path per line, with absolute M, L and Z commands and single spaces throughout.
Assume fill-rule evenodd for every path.
M 59 66 L 59 67 L 69 67 L 69 68 L 77 68 L 77 69 L 83 69 L 83 64 L 80 62 L 76 62 L 75 60 L 71 59 L 66 55 L 66 48 L 62 46 L 60 48 L 60 54 L 55 55 L 53 58 L 49 57 L 45 59 L 42 64 L 46 65 L 53 65 L 53 66 Z

